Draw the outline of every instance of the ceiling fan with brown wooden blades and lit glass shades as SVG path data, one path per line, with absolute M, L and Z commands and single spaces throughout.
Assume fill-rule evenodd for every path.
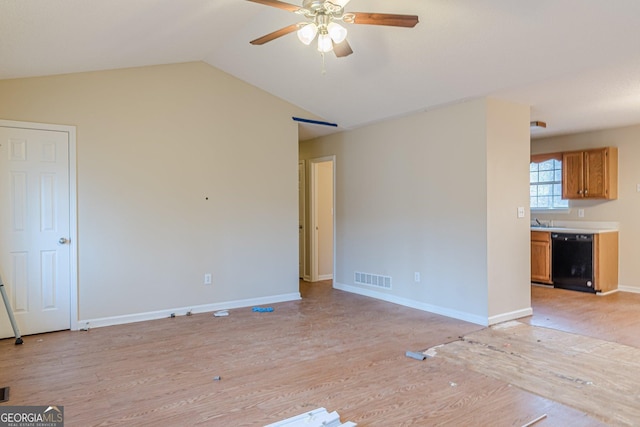
M 307 21 L 292 24 L 260 38 L 252 40 L 253 45 L 263 45 L 279 37 L 297 31 L 298 38 L 306 45 L 318 38 L 318 51 L 333 51 L 340 58 L 351 55 L 353 50 L 347 42 L 347 29 L 336 21 L 347 24 L 386 25 L 413 28 L 418 23 L 416 15 L 396 15 L 389 13 L 345 12 L 349 0 L 302 0 L 302 7 L 279 0 L 247 0 L 266 6 L 277 7 L 297 13 Z

